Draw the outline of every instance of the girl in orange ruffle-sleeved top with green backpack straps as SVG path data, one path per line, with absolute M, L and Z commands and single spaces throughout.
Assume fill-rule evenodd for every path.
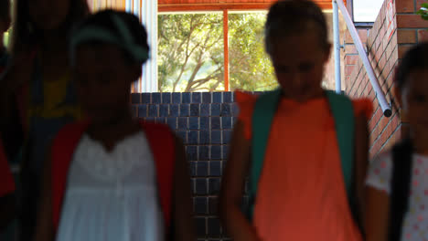
M 362 240 L 371 104 L 321 89 L 330 44 L 315 3 L 275 3 L 265 33 L 280 89 L 258 99 L 237 93 L 241 113 L 220 193 L 222 221 L 236 241 Z

